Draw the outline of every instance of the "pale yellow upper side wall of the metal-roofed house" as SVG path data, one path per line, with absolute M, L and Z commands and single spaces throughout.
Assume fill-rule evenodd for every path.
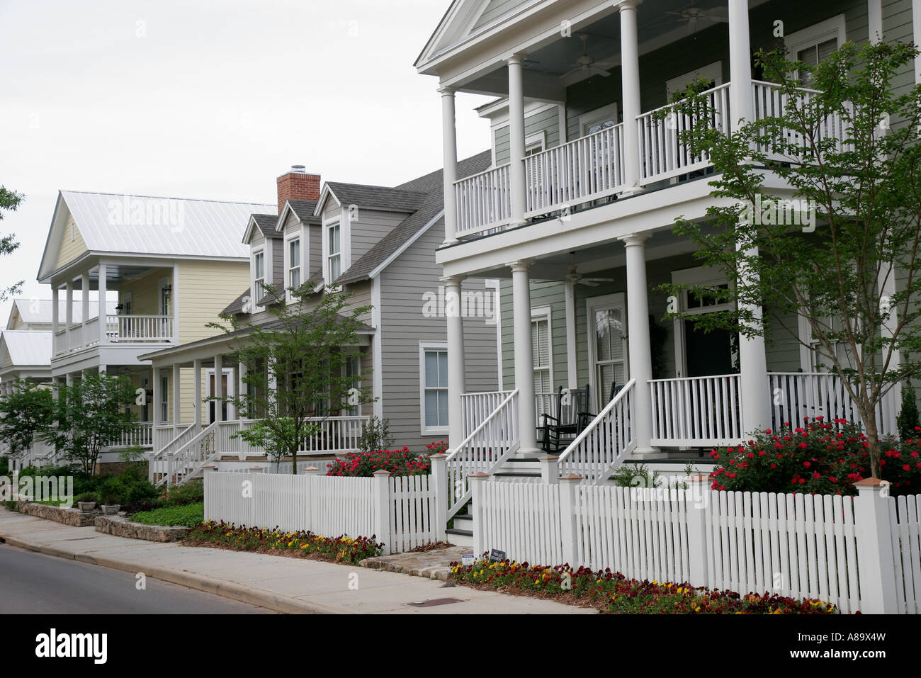
M 250 264 L 181 262 L 179 266 L 180 342 L 188 344 L 218 333 L 207 324 L 219 322 L 218 313 L 250 286 Z

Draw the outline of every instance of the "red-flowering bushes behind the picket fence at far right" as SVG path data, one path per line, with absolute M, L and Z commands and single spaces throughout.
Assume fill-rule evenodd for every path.
M 921 431 L 921 428 L 916 429 Z M 921 432 L 918 433 L 921 437 Z M 892 495 L 921 488 L 921 438 L 880 441 L 880 476 Z M 713 450 L 722 465 L 711 473 L 715 490 L 855 495 L 858 480 L 870 476 L 869 443 L 846 419 L 805 419 L 780 430 L 757 432 L 747 444 Z

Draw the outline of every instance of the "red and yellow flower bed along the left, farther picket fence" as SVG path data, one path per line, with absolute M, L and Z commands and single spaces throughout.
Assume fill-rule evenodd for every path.
M 263 554 L 329 560 L 333 563 L 350 563 L 380 555 L 383 544 L 376 544 L 375 536 L 321 537 L 313 532 L 283 532 L 281 530 L 237 527 L 223 520 L 208 520 L 196 525 L 183 540 L 187 546 L 216 546 L 233 551 L 254 551 Z

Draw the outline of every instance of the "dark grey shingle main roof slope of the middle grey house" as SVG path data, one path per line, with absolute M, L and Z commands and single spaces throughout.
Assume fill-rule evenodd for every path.
M 461 160 L 458 162 L 458 178 L 462 179 L 482 172 L 484 169 L 489 168 L 491 162 L 492 154 L 490 151 L 484 151 L 472 156 L 472 158 Z M 384 263 L 393 252 L 400 249 L 406 240 L 412 238 L 420 228 L 425 227 L 444 209 L 445 199 L 441 169 L 429 172 L 412 181 L 407 181 L 393 190 L 424 194 L 426 199 L 420 203 L 413 214 L 403 219 L 400 224 L 381 238 L 374 247 L 365 252 L 356 263 L 349 266 L 348 270 L 336 280 L 337 283 L 356 283 L 361 280 L 367 280 L 374 269 Z M 338 197 L 338 193 L 336 195 Z

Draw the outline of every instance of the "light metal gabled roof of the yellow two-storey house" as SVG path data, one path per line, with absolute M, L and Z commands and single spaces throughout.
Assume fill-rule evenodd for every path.
M 247 259 L 240 229 L 252 213 L 275 209 L 276 205 L 261 203 L 60 191 L 39 280 L 54 271 L 68 215 L 74 217 L 90 252 Z

